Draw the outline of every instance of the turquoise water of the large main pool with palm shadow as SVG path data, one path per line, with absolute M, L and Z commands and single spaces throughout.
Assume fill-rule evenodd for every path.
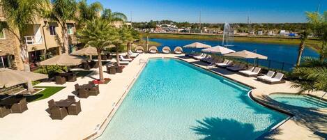
M 287 118 L 250 88 L 176 59 L 151 59 L 98 139 L 256 139 Z

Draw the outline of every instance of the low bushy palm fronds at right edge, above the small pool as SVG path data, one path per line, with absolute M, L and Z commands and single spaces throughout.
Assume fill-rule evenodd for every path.
M 295 83 L 293 87 L 303 91 L 324 91 L 327 93 L 327 61 L 304 58 L 303 63 L 291 73 Z

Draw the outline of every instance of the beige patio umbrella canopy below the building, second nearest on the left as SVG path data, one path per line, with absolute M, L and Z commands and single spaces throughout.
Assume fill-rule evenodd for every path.
M 51 59 L 41 61 L 40 65 L 61 65 L 61 66 L 74 66 L 87 62 L 83 56 L 75 56 L 72 54 L 61 54 L 54 56 Z

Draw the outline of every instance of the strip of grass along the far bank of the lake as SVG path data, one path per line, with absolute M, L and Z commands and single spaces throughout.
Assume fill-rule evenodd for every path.
M 145 37 L 142 34 L 142 37 Z M 172 39 L 184 39 L 184 40 L 222 40 L 222 36 L 214 35 L 198 35 L 198 34 L 177 34 L 177 33 L 150 33 L 149 38 L 172 38 Z M 270 36 L 236 36 L 235 42 L 259 42 L 269 44 L 285 44 L 285 45 L 299 45 L 300 40 L 298 38 L 287 37 L 270 37 Z M 308 47 L 312 47 L 315 50 L 319 50 L 321 46 L 320 42 L 315 39 L 308 39 L 306 42 Z

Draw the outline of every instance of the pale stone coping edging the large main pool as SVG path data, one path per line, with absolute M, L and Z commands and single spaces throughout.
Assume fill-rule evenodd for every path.
M 121 106 L 121 104 L 123 103 L 123 100 L 126 98 L 126 95 L 128 95 L 130 88 L 132 88 L 132 86 L 135 84 L 135 81 L 138 79 L 139 75 L 142 73 L 142 71 L 144 70 L 144 68 L 146 67 L 147 63 L 149 62 L 150 59 L 178 59 L 181 61 L 184 61 L 185 63 L 189 63 L 190 65 L 194 65 L 197 68 L 201 68 L 202 70 L 206 70 L 208 72 L 211 72 L 215 75 L 218 75 L 220 77 L 223 77 L 225 79 L 229 79 L 231 81 L 234 81 L 238 84 L 242 84 L 244 86 L 248 86 L 250 89 L 250 91 L 248 92 L 248 96 L 250 97 L 251 100 L 253 100 L 254 102 L 256 102 L 257 104 L 266 107 L 268 109 L 271 109 L 273 111 L 277 111 L 281 114 L 285 114 L 288 117 L 285 118 L 284 120 L 282 120 L 280 123 L 277 123 L 277 125 L 274 125 L 270 130 L 268 130 L 267 132 L 264 132 L 264 134 L 261 134 L 259 137 L 257 137 L 256 139 L 261 139 L 262 137 L 266 136 L 267 134 L 269 134 L 270 132 L 273 132 L 273 130 L 276 130 L 278 127 L 280 127 L 282 124 L 286 123 L 287 120 L 291 119 L 292 117 L 294 117 L 294 114 L 291 114 L 288 111 L 284 111 L 283 109 L 278 109 L 277 107 L 273 107 L 271 105 L 265 104 L 264 102 L 260 102 L 259 100 L 255 99 L 254 96 L 252 95 L 252 90 L 255 89 L 254 86 L 250 86 L 248 84 L 245 84 L 241 81 L 238 81 L 236 79 L 232 79 L 230 77 L 226 77 L 225 75 L 220 74 L 219 72 L 215 72 L 213 70 L 209 70 L 206 68 L 202 68 L 199 65 L 195 65 L 193 63 L 190 63 L 188 61 L 185 61 L 181 58 L 178 57 L 166 57 L 166 56 L 162 56 L 162 57 L 149 57 L 146 59 L 146 63 L 144 63 L 142 65 L 142 68 L 139 70 L 139 72 L 137 72 L 137 75 L 135 75 L 135 77 L 133 78 L 132 82 L 128 85 L 128 88 L 126 88 L 126 91 L 124 91 L 123 95 L 121 95 L 121 98 L 119 98 L 119 100 L 116 102 L 116 104 L 114 104 L 114 108 L 112 109 L 112 111 L 109 112 L 109 115 L 105 118 L 105 120 L 103 120 L 103 122 L 101 123 L 100 126 L 96 127 L 95 132 L 93 132 L 92 134 L 89 134 L 89 136 L 87 136 L 86 138 L 84 138 L 83 140 L 89 140 L 89 139 L 97 139 L 98 137 L 100 137 L 103 132 L 105 132 L 107 125 L 109 125 L 110 121 L 112 120 L 112 118 L 114 117 L 114 115 L 116 114 L 116 111 L 118 111 L 119 107 Z

